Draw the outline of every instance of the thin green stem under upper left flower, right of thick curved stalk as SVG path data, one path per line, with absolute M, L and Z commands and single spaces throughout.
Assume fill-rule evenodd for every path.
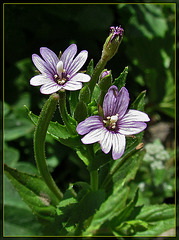
M 70 134 L 76 134 L 74 131 L 74 122 L 72 123 L 72 119 L 68 114 L 66 107 L 66 93 L 59 92 L 60 100 L 59 100 L 59 110 L 64 124 Z

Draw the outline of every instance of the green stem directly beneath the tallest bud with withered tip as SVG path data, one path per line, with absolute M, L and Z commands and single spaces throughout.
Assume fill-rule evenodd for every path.
M 89 85 L 88 85 L 91 94 L 92 94 L 92 92 L 94 90 L 94 87 L 95 87 L 95 85 L 96 85 L 96 83 L 97 83 L 97 81 L 99 79 L 99 76 L 100 76 L 101 72 L 103 71 L 106 63 L 107 63 L 107 60 L 101 58 L 99 60 L 99 62 L 97 63 L 95 69 L 94 69 L 94 72 L 93 72 L 93 74 L 91 76 L 91 80 L 90 80 Z

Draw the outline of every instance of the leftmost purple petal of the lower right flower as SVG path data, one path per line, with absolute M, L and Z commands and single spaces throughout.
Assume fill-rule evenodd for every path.
M 78 134 L 84 135 L 94 129 L 103 127 L 102 120 L 100 116 L 91 116 L 80 122 L 76 128 Z

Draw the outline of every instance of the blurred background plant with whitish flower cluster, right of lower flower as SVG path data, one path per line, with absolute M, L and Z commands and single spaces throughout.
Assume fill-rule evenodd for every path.
M 133 191 L 139 187 L 140 204 L 163 203 L 175 192 L 175 151 L 165 149 L 159 139 L 145 146 L 146 153 L 131 182 Z

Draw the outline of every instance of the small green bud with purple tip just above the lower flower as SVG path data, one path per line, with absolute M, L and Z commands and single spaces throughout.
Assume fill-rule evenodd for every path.
M 111 71 L 107 71 L 107 69 L 105 69 L 100 76 L 98 85 L 101 90 L 106 92 L 108 88 L 111 86 L 111 84 L 112 84 Z

